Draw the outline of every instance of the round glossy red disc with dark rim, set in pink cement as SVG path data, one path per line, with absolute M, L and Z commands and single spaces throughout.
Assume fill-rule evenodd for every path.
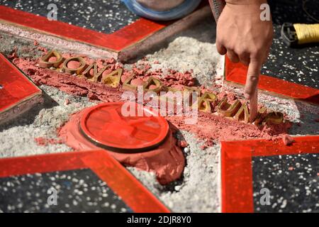
M 120 153 L 137 153 L 160 145 L 169 132 L 167 121 L 144 106 L 133 103 L 129 109 L 123 104 L 105 103 L 87 109 L 80 120 L 84 136 L 101 148 Z M 131 114 L 123 116 L 122 106 Z M 138 106 L 146 116 L 138 115 Z

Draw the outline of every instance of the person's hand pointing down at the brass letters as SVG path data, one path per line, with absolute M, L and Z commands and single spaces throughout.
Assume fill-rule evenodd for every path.
M 262 21 L 265 0 L 226 0 L 217 23 L 216 48 L 232 62 L 248 66 L 244 95 L 251 99 L 257 92 L 259 72 L 272 45 L 272 20 Z

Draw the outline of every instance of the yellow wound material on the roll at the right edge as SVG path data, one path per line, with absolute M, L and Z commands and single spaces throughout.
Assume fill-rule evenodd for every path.
M 293 27 L 296 30 L 298 44 L 319 43 L 319 23 L 294 23 Z

